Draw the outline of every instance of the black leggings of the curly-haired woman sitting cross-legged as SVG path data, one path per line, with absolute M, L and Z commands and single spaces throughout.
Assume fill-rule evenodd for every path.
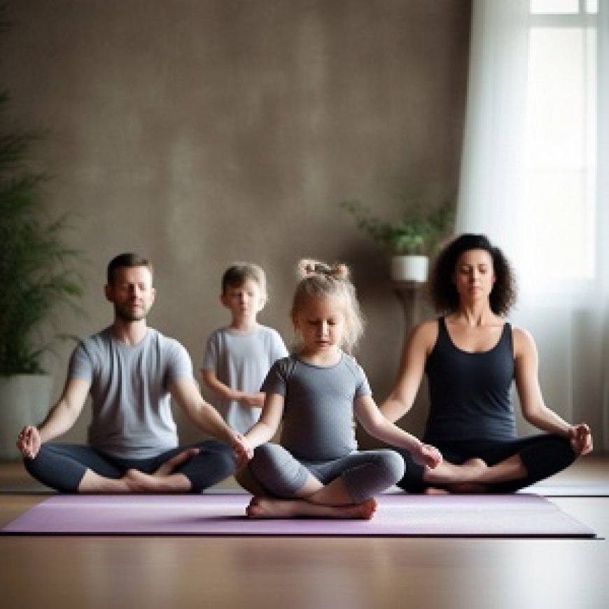
M 440 449 L 444 461 L 461 465 L 470 458 L 481 458 L 486 465 L 496 465 L 514 455 L 519 455 L 526 475 L 505 482 L 484 483 L 488 493 L 514 493 L 568 467 L 575 458 L 569 440 L 552 434 L 534 435 L 519 440 L 458 440 L 431 442 Z M 405 474 L 398 486 L 409 493 L 422 493 L 428 486 L 423 479 L 424 468 L 414 463 L 407 451 L 397 450 L 404 458 Z M 441 487 L 439 484 L 433 486 Z

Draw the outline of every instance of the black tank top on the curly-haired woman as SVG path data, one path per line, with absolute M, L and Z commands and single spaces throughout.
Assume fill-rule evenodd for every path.
M 426 442 L 511 440 L 516 437 L 510 388 L 514 379 L 512 328 L 503 325 L 489 351 L 468 353 L 452 342 L 444 318 L 427 358 L 430 409 Z

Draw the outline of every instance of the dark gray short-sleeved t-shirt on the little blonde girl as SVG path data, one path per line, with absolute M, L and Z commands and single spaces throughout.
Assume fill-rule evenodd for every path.
M 262 391 L 283 395 L 281 446 L 304 461 L 328 461 L 357 449 L 353 400 L 370 395 L 356 360 L 346 353 L 331 367 L 296 356 L 277 361 Z

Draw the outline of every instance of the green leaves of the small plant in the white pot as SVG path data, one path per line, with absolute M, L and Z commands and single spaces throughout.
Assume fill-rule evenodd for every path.
M 394 222 L 379 218 L 358 200 L 343 201 L 341 207 L 353 216 L 358 229 L 392 254 L 432 255 L 454 225 L 451 200 L 431 210 L 404 200 L 400 217 Z

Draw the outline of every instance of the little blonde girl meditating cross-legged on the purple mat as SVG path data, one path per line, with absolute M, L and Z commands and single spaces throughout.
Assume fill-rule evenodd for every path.
M 346 266 L 302 260 L 292 321 L 299 344 L 267 375 L 258 423 L 246 434 L 248 472 L 258 488 L 247 514 L 254 518 L 372 518 L 373 496 L 398 482 L 403 460 L 389 449 L 358 451 L 353 414 L 365 430 L 407 449 L 417 463 L 442 461 L 382 416 L 363 370 L 350 351 L 363 330 Z M 269 440 L 283 423 L 280 444 Z M 253 454 L 253 458 L 252 458 Z

